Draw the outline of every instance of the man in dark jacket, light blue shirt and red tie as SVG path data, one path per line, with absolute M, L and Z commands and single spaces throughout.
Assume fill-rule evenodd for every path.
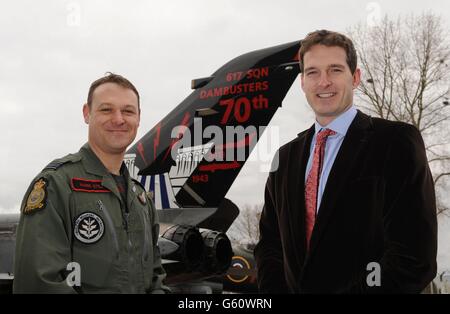
M 255 248 L 263 293 L 419 293 L 436 274 L 434 186 L 412 125 L 356 110 L 350 39 L 299 51 L 315 124 L 279 149 Z

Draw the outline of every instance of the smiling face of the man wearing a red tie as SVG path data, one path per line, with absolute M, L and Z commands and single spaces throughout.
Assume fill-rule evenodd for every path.
M 361 79 L 351 73 L 346 52 L 338 46 L 315 45 L 303 57 L 302 89 L 317 121 L 326 126 L 353 103 L 353 90 Z

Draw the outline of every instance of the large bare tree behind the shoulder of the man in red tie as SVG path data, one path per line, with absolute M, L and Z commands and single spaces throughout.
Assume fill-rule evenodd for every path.
M 438 213 L 449 209 L 450 44 L 442 19 L 433 14 L 392 19 L 349 30 L 362 81 L 356 95 L 364 111 L 404 121 L 424 137 L 438 194 Z

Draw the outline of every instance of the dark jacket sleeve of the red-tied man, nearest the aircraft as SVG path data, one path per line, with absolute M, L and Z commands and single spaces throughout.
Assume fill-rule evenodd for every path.
M 286 293 L 288 291 L 284 276 L 277 204 L 274 197 L 275 175 L 275 172 L 271 172 L 267 179 L 264 208 L 259 223 L 260 238 L 254 251 L 258 269 L 258 289 L 261 293 Z

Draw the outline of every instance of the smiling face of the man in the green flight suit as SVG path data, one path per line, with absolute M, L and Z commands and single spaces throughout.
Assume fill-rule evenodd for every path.
M 140 112 L 137 95 L 116 83 L 98 86 L 91 106 L 83 106 L 89 145 L 102 155 L 124 154 L 136 138 Z

